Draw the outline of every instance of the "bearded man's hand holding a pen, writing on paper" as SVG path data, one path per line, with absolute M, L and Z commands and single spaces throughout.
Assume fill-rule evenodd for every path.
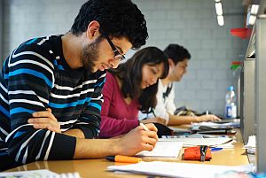
M 131 130 L 127 135 L 123 135 L 120 139 L 120 148 L 122 155 L 132 156 L 140 151 L 153 151 L 158 141 L 157 128 L 153 124 L 146 124 L 149 131 L 138 126 Z

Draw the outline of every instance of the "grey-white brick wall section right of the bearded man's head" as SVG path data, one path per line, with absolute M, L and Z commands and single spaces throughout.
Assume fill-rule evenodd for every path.
M 241 59 L 239 54 L 245 51 L 242 48 L 246 42 L 230 35 L 231 28 L 245 24 L 242 1 L 222 1 L 224 27 L 217 25 L 213 0 L 134 2 L 147 19 L 150 35 L 147 46 L 163 50 L 168 43 L 179 43 L 192 54 L 188 74 L 176 83 L 176 105 L 223 114 L 226 89 L 229 85 L 236 86 L 231 61 Z M 230 15 L 232 13 L 239 14 Z

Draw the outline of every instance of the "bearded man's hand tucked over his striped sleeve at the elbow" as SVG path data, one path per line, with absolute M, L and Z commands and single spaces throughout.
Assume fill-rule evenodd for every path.
M 48 108 L 45 112 L 34 112 L 33 118 L 27 120 L 29 124 L 33 124 L 34 128 L 47 128 L 52 132 L 61 133 L 58 120 L 51 113 L 51 109 Z

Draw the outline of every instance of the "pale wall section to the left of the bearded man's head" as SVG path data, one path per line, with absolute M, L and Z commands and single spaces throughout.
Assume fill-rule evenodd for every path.
M 4 53 L 35 36 L 65 34 L 84 0 L 4 0 Z

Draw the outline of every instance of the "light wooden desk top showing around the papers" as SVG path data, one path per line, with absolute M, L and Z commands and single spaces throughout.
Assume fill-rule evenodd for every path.
M 227 166 L 239 166 L 248 164 L 246 151 L 242 150 L 243 142 L 240 132 L 238 130 L 236 135 L 233 135 L 237 141 L 234 144 L 234 149 L 224 149 L 223 151 L 212 152 L 212 159 L 210 161 L 185 161 L 181 160 L 181 154 L 176 160 L 165 160 L 175 161 L 183 163 L 198 163 L 198 164 L 210 164 L 210 165 L 227 165 Z M 146 175 L 137 174 L 113 174 L 107 172 L 106 167 L 112 166 L 114 162 L 107 161 L 106 159 L 82 159 L 82 160 L 62 160 L 62 161 L 37 161 L 24 166 L 19 166 L 10 171 L 26 171 L 35 169 L 49 169 L 55 173 L 66 173 L 66 172 L 78 172 L 82 178 L 86 177 L 146 177 Z

